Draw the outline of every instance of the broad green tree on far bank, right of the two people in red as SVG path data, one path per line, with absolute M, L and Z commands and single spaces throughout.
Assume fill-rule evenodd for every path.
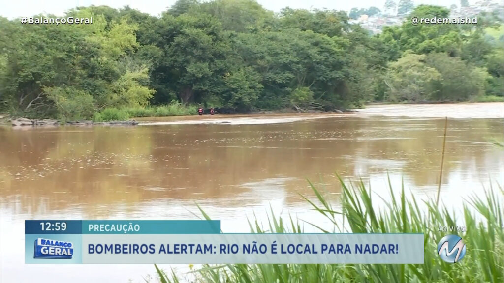
M 312 31 L 289 30 L 243 34 L 236 39 L 241 57 L 262 76 L 260 108 L 287 106 L 293 90 L 308 87 L 318 100 L 342 105 L 338 87 L 345 77 L 346 60 L 338 40 Z

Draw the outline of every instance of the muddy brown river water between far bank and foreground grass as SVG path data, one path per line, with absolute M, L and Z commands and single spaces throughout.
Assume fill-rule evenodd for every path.
M 151 265 L 25 265 L 27 219 L 197 219 L 224 232 L 275 214 L 324 226 L 299 194 L 333 195 L 335 176 L 388 193 L 435 195 L 449 117 L 442 200 L 502 185 L 504 105 L 384 105 L 358 113 L 141 119 L 134 127 L 0 127 L 0 281 L 143 282 Z M 266 222 L 267 224 L 267 222 Z M 306 231 L 312 228 L 305 226 Z M 164 266 L 166 267 L 166 266 Z M 185 266 L 176 266 L 185 270 Z M 57 274 L 57 276 L 56 276 Z

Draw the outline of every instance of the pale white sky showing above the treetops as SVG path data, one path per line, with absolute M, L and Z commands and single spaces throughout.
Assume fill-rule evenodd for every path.
M 157 16 L 165 11 L 176 0 L 0 0 L 0 16 L 14 19 L 30 17 L 37 14 L 62 15 L 67 10 L 77 6 L 101 6 L 112 8 L 130 6 L 133 9 Z M 377 7 L 383 9 L 385 0 L 257 0 L 265 9 L 279 12 L 282 8 L 293 9 L 324 9 L 350 11 L 352 8 Z M 396 3 L 398 0 L 396 1 Z M 449 7 L 452 4 L 459 6 L 460 0 L 413 0 L 415 5 L 439 5 Z M 473 4 L 476 0 L 470 0 Z

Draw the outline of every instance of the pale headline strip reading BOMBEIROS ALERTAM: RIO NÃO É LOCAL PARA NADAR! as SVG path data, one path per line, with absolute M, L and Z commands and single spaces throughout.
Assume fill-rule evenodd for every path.
M 83 235 L 83 264 L 422 264 L 423 234 Z

